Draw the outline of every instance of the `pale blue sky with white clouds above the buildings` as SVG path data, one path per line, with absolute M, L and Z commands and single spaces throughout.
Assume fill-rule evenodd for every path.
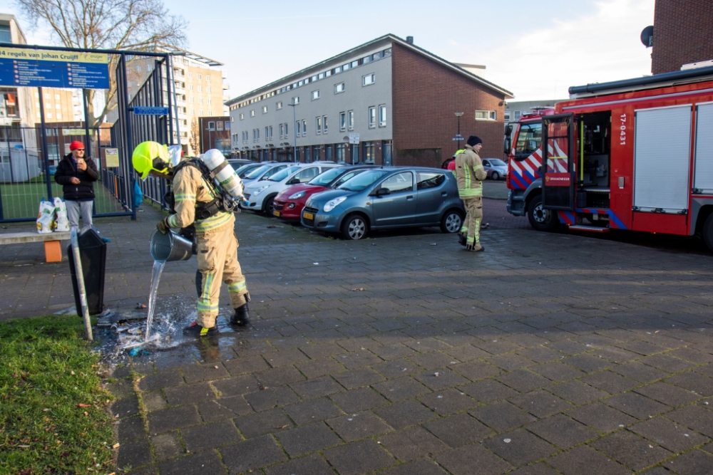
M 650 73 L 640 32 L 655 0 L 165 0 L 190 21 L 188 49 L 225 63 L 235 97 L 386 33 L 448 61 L 486 65 L 515 100 L 566 98 L 570 85 Z M 0 11 L 14 13 L 11 1 Z M 22 26 L 31 43 L 46 30 Z

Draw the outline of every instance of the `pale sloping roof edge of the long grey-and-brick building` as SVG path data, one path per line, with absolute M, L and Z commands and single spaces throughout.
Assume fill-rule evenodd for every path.
M 416 46 L 413 43 L 408 43 L 406 40 L 404 40 L 403 38 L 399 38 L 399 36 L 396 36 L 393 33 L 387 33 L 384 36 L 379 36 L 379 38 L 375 38 L 371 41 L 367 41 L 366 43 L 362 43 L 359 46 L 355 46 L 354 48 L 351 48 L 347 51 L 343 51 L 342 53 L 334 55 L 331 58 L 327 58 L 324 61 L 320 61 L 319 63 L 315 63 L 312 66 L 308 66 L 307 68 L 303 68 L 303 69 L 296 71 L 292 74 L 286 75 L 283 78 L 279 78 L 278 80 L 272 81 L 272 83 L 268 83 L 266 85 L 261 86 L 260 88 L 251 90 L 249 93 L 245 93 L 245 94 L 237 96 L 236 98 L 226 100 L 223 104 L 230 106 L 235 103 L 240 103 L 240 102 L 242 102 L 242 100 L 245 100 L 247 98 L 252 98 L 255 95 L 259 95 L 260 93 L 274 89 L 279 84 L 292 82 L 293 79 L 302 77 L 303 75 L 308 74 L 312 70 L 320 69 L 321 67 L 323 67 L 324 64 L 330 63 L 332 61 L 336 61 L 338 58 L 341 58 L 342 56 L 352 56 L 354 54 L 354 52 L 359 51 L 360 49 L 367 48 L 368 46 L 379 43 L 380 41 L 385 41 L 387 39 L 391 40 L 392 42 L 399 43 L 399 46 L 404 46 L 406 48 L 411 49 L 412 51 L 415 51 L 416 53 L 419 53 L 423 56 L 427 56 L 427 57 L 433 59 L 434 61 L 436 61 L 437 63 L 441 63 L 443 66 L 451 68 L 451 69 L 453 69 L 453 71 L 456 71 L 457 73 L 465 75 L 466 77 L 468 77 L 470 79 L 476 80 L 476 82 L 481 83 L 482 85 L 485 85 L 487 88 L 491 88 L 493 90 L 498 91 L 498 93 L 502 93 L 503 95 L 506 96 L 506 99 L 515 97 L 513 95 L 513 93 L 511 93 L 509 90 L 503 89 L 500 86 L 498 86 L 494 83 L 491 83 L 490 81 L 485 80 L 478 75 L 475 75 L 469 71 L 466 71 L 465 69 L 463 69 L 459 66 L 456 66 L 455 64 L 451 63 L 450 61 L 447 61 L 447 60 L 441 58 L 440 56 L 437 56 L 434 53 L 431 53 L 430 51 L 425 50 L 424 48 Z

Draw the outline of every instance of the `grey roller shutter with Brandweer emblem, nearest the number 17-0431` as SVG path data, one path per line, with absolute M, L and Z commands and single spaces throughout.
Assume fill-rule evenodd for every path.
M 691 105 L 635 112 L 634 207 L 682 212 L 689 197 Z

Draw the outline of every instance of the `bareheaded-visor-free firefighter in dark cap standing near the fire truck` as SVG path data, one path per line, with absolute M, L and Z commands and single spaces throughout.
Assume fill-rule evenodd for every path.
M 458 196 L 466 208 L 466 220 L 463 221 L 458 239 L 466 244 L 468 251 L 484 251 L 481 246 L 481 221 L 483 220 L 483 180 L 488 174 L 478 152 L 483 147 L 483 140 L 476 135 L 468 137 L 466 151 L 456 155 L 456 179 Z M 463 243 L 463 241 L 465 241 Z

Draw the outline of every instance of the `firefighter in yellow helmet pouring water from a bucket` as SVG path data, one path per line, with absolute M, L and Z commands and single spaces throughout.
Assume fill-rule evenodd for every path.
M 208 150 L 206 154 L 220 153 Z M 173 162 L 173 164 L 171 163 Z M 144 179 L 149 174 L 173 180 L 172 214 L 158 222 L 158 230 L 166 234 L 170 228 L 186 229 L 195 227 L 195 243 L 198 254 L 198 316 L 195 322 L 183 329 L 183 333 L 205 336 L 217 333 L 215 319 L 218 315 L 220 285 L 227 283 L 230 303 L 235 308 L 232 325 L 250 324 L 245 276 L 237 261 L 237 238 L 235 237 L 235 216 L 222 209 L 220 196 L 215 196 L 207 168 L 201 168 L 195 159 L 169 158 L 168 147 L 158 142 L 142 142 L 133 151 L 134 169 Z M 205 167 L 205 166 L 204 166 Z M 242 185 L 242 184 L 241 184 Z M 167 202 L 170 201 L 167 199 Z

